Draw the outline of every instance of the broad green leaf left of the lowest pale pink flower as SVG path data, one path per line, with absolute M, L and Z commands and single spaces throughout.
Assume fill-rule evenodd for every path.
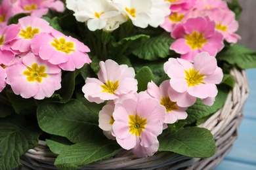
M 41 103 L 37 108 L 37 121 L 43 131 L 66 137 L 73 143 L 84 141 L 87 137 L 103 136 L 98 127 L 98 115 L 75 99 L 65 104 Z

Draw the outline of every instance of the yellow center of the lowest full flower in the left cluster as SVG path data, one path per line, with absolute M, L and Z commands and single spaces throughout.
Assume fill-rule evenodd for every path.
M 27 76 L 29 82 L 41 82 L 43 78 L 46 78 L 48 75 L 45 74 L 46 67 L 41 65 L 38 67 L 37 63 L 33 63 L 31 68 L 27 67 L 28 70 L 23 72 L 23 75 Z

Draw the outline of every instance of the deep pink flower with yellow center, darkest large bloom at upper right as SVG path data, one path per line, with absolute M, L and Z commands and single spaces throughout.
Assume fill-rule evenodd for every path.
M 215 31 L 215 23 L 207 16 L 189 18 L 184 23 L 177 24 L 171 33 L 177 39 L 170 49 L 181 54 L 182 59 L 193 61 L 200 52 L 208 52 L 216 56 L 223 47 L 223 35 Z

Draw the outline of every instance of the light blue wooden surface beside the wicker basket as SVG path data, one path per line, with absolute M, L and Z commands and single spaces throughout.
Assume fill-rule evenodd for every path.
M 244 119 L 238 139 L 215 170 L 256 170 L 256 69 L 248 69 L 249 97 L 244 105 Z

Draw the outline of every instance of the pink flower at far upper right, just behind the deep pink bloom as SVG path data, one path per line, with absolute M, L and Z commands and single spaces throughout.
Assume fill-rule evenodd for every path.
M 209 10 L 209 18 L 215 22 L 215 29 L 230 43 L 236 43 L 238 39 L 241 39 L 239 35 L 234 33 L 238 31 L 238 22 L 235 16 L 236 14 L 228 9 Z

